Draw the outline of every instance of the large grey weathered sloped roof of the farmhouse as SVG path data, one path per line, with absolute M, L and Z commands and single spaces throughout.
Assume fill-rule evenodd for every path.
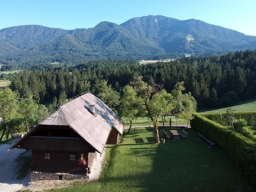
M 90 112 L 89 104 L 95 105 L 94 114 Z M 95 150 L 102 153 L 111 128 L 122 135 L 124 121 L 99 98 L 92 93 L 86 93 L 60 106 L 39 125 L 70 126 Z

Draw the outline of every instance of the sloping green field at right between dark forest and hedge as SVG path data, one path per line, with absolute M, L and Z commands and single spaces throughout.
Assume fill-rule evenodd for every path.
M 199 113 L 217 113 L 226 112 L 230 107 L 220 108 L 220 109 L 202 109 L 198 110 Z M 256 99 L 249 101 L 242 101 L 234 106 L 231 106 L 236 112 L 246 112 L 246 111 L 256 111 Z

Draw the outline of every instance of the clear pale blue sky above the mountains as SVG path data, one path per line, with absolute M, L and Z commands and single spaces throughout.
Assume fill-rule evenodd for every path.
M 52 28 L 92 28 L 101 21 L 163 15 L 256 36 L 256 0 L 2 0 L 0 29 L 38 24 Z

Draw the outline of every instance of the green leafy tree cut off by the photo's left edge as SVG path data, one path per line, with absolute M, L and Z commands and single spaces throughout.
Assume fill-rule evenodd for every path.
M 2 141 L 5 131 L 7 130 L 8 123 L 17 117 L 17 109 L 18 104 L 16 93 L 12 92 L 12 90 L 10 90 L 8 87 L 0 90 L 0 116 L 3 118 L 3 133 L 0 138 L 0 142 Z

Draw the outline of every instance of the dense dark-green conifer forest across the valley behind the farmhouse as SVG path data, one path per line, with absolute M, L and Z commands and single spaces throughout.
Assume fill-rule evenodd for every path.
M 167 92 L 175 83 L 184 81 L 186 92 L 192 93 L 198 108 L 222 107 L 256 98 L 255 63 L 256 50 L 246 50 L 141 65 L 130 60 L 102 60 L 76 66 L 34 66 L 36 70 L 16 74 L 10 88 L 21 97 L 32 95 L 36 103 L 45 104 L 61 93 L 67 98 L 87 90 L 96 93 L 102 80 L 122 95 L 125 85 L 142 76 L 145 82 L 153 78 Z

